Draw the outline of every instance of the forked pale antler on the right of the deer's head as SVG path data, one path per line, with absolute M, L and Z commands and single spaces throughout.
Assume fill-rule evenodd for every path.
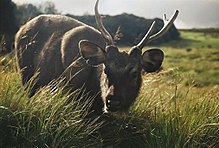
M 154 24 L 155 21 L 153 21 L 152 25 L 150 26 L 148 32 L 146 33 L 146 35 L 144 36 L 144 38 L 138 43 L 137 47 L 139 47 L 140 49 L 142 49 L 146 44 L 148 44 L 149 42 L 161 37 L 162 35 L 164 35 L 168 29 L 170 28 L 170 26 L 173 24 L 173 22 L 175 21 L 175 19 L 177 18 L 179 14 L 179 11 L 176 10 L 173 14 L 173 16 L 170 18 L 170 20 L 167 20 L 166 18 L 166 14 L 164 14 L 163 16 L 163 22 L 164 22 L 164 26 L 163 28 L 157 32 L 156 34 L 153 34 L 150 36 L 153 28 L 154 28 Z

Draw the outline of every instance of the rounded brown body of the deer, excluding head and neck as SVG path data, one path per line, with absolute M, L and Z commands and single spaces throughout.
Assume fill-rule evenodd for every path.
M 18 31 L 15 39 L 23 85 L 38 71 L 38 81 L 34 89 L 48 84 L 62 74 L 71 85 L 76 88 L 82 86 L 91 72 L 96 73 L 92 68 L 85 68 L 87 64 L 84 60 L 78 59 L 78 43 L 82 39 L 105 47 L 99 31 L 66 16 L 40 15 L 27 22 Z M 78 71 L 80 74 L 76 74 Z

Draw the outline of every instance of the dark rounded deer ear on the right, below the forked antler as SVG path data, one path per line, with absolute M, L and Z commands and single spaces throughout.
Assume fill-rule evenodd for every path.
M 164 59 L 164 53 L 160 49 L 146 50 L 141 56 L 141 65 L 146 72 L 157 71 Z

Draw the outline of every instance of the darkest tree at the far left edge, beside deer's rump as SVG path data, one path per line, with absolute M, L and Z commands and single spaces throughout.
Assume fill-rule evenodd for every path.
M 11 0 L 0 0 L 0 53 L 12 49 L 14 35 L 18 29 L 16 5 Z

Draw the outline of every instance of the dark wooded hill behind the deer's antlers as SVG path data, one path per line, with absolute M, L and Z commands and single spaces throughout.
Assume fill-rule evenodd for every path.
M 96 27 L 96 21 L 93 15 L 74 16 L 68 14 L 67 16 L 76 18 L 88 25 Z M 116 35 L 118 28 L 120 29 L 122 37 L 117 41 L 118 45 L 131 46 L 137 44 L 143 38 L 152 24 L 152 21 L 156 21 L 155 28 L 152 32 L 152 34 L 154 34 L 163 27 L 163 21 L 161 19 L 145 19 L 132 14 L 124 13 L 116 16 L 106 15 L 103 19 L 103 24 L 107 30 L 112 33 L 112 36 Z M 157 45 L 177 39 L 179 39 L 179 32 L 175 26 L 172 25 L 163 37 L 151 42 L 150 44 Z

